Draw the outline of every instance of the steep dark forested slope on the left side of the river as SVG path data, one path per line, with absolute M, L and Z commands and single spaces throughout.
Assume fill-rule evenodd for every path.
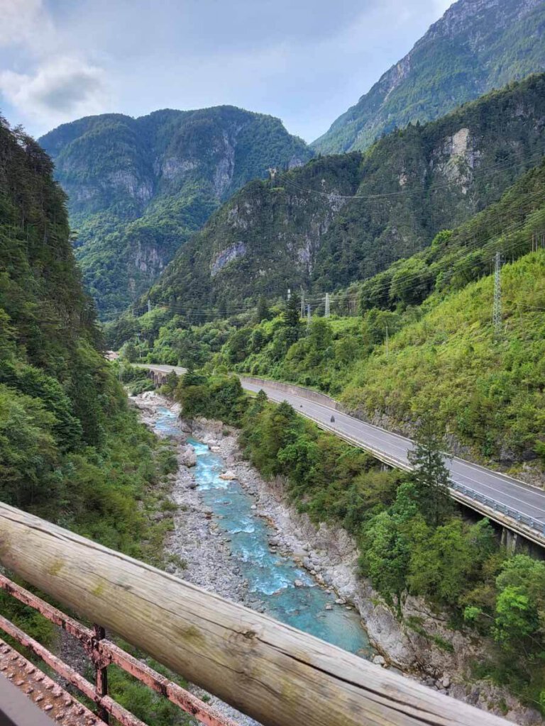
M 0 498 L 160 565 L 169 446 L 137 421 L 102 355 L 52 162 L 0 122 Z M 55 630 L 1 595 L 2 613 L 55 648 Z M 110 668 L 110 693 L 155 725 L 177 709 Z M 180 721 L 179 717 L 178 723 Z

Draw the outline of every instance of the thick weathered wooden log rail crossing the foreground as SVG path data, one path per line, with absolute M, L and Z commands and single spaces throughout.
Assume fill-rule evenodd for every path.
M 4 504 L 0 562 L 265 726 L 506 724 Z

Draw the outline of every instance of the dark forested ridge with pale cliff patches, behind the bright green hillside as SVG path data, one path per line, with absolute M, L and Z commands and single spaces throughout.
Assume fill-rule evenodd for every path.
M 368 152 L 252 181 L 150 290 L 177 311 L 237 309 L 302 285 L 364 280 L 501 197 L 544 153 L 545 76 L 531 76 Z

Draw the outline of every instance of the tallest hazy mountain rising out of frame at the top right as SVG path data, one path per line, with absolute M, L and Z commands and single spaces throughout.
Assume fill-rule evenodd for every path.
M 541 72 L 544 38 L 544 0 L 459 0 L 311 146 L 321 154 L 363 150 L 396 127 Z

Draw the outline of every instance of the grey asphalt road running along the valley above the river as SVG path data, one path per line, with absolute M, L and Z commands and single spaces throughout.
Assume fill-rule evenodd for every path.
M 175 366 L 150 365 L 148 367 L 162 372 L 174 370 L 179 375 L 185 372 L 184 368 Z M 385 431 L 378 426 L 364 423 L 331 407 L 309 401 L 303 396 L 278 391 L 278 389 L 267 386 L 265 383 L 254 384 L 248 381 L 242 383 L 243 388 L 246 388 L 247 391 L 257 392 L 262 388 L 272 401 L 288 401 L 300 414 L 310 417 L 333 433 L 350 438 L 351 441 L 359 444 L 363 449 L 372 450 L 379 459 L 400 468 L 409 468 L 407 454 L 413 448 L 411 439 Z M 302 393 L 304 394 L 304 391 Z M 334 422 L 331 421 L 331 416 L 334 416 Z M 458 489 L 458 491 L 461 488 L 467 490 L 470 498 L 477 500 L 480 498 L 488 506 L 490 505 L 486 501 L 487 499 L 496 502 L 499 505 L 498 510 L 504 516 L 520 520 L 525 525 L 540 530 L 541 534 L 545 535 L 545 492 L 541 492 L 539 489 L 512 477 L 457 457 L 446 459 L 445 462 L 450 470 L 455 489 Z M 462 493 L 464 493 L 463 490 Z M 504 507 L 504 511 L 502 511 L 501 507 Z M 478 507 L 476 508 L 478 509 Z

